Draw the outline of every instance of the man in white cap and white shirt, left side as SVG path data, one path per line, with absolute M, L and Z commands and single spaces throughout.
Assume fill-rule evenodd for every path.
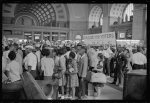
M 37 65 L 37 57 L 33 54 L 32 50 L 34 49 L 33 46 L 27 45 L 26 47 L 26 57 L 24 58 L 24 67 L 25 70 L 29 71 L 34 78 L 36 78 L 36 65 Z

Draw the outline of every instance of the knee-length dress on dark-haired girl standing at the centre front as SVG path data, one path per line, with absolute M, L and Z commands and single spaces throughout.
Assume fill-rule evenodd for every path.
M 77 62 L 74 59 L 68 65 L 71 65 L 72 68 L 74 69 L 74 71 L 69 75 L 69 79 L 67 81 L 67 87 L 78 87 L 79 86 L 79 80 L 78 80 L 78 76 L 77 76 L 77 72 L 78 72 Z

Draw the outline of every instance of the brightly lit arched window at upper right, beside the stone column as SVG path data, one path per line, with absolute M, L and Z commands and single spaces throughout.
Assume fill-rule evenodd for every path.
M 129 4 L 123 13 L 123 21 L 130 21 L 130 16 L 133 16 L 133 4 Z

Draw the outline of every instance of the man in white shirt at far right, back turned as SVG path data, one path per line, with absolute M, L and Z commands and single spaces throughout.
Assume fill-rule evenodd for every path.
M 132 69 L 145 69 L 147 64 L 147 58 L 141 53 L 141 47 L 137 47 L 137 53 L 132 55 Z

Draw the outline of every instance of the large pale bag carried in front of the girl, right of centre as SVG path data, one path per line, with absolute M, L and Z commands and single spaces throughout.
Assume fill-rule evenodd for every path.
M 92 83 L 106 83 L 107 82 L 107 78 L 106 75 L 103 73 L 91 73 L 91 82 Z

